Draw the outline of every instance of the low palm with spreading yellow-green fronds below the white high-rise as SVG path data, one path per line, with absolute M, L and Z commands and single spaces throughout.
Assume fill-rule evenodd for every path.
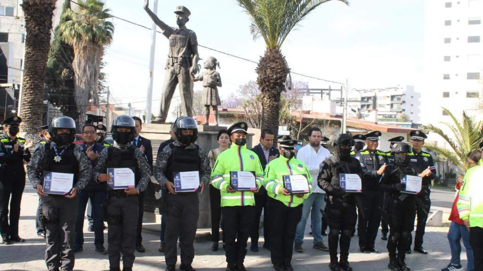
M 448 113 L 453 122 L 439 123 L 449 129 L 451 134 L 453 134 L 452 136 L 433 124 L 422 125 L 421 129 L 441 136 L 448 143 L 449 148 L 443 148 L 434 143 L 425 145 L 425 148 L 434 151 L 443 160 L 454 163 L 463 172 L 466 172 L 468 165 L 465 162 L 468 153 L 472 150 L 480 149 L 479 145 L 483 137 L 483 123 L 468 116 L 464 111 L 463 119 L 460 122 L 448 109 L 443 108 L 443 110 Z

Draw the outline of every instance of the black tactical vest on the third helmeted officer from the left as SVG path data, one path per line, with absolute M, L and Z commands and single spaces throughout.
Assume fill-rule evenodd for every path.
M 186 149 L 185 147 L 176 147 L 173 143 L 168 145 L 171 149 L 171 155 L 168 158 L 166 167 L 166 177 L 173 182 L 173 176 L 178 172 L 198 171 L 201 168 L 199 159 L 199 147 L 195 149 Z M 184 192 L 181 194 L 187 194 Z

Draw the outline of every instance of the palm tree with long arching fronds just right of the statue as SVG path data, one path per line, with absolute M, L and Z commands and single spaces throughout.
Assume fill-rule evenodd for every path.
M 257 84 L 262 93 L 262 127 L 278 135 L 280 95 L 290 73 L 280 51 L 288 34 L 309 13 L 330 0 L 237 0 L 252 20 L 250 32 L 254 39 L 262 37 L 265 54 L 256 68 Z M 347 0 L 338 0 L 348 4 Z M 276 142 L 274 142 L 274 145 Z

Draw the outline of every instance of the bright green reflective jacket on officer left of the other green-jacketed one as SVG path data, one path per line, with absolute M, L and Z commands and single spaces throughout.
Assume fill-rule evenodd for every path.
M 221 192 L 222 207 L 255 205 L 255 197 L 252 191 L 227 192 L 231 171 L 255 172 L 256 185 L 261 187 L 263 170 L 258 155 L 247 149 L 246 145 L 240 147 L 231 144 L 230 149 L 218 155 L 211 174 L 211 184 Z

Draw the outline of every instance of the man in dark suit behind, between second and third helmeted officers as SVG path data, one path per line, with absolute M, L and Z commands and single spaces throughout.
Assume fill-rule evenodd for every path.
M 139 135 L 142 130 L 142 120 L 139 117 L 132 117 L 136 122 L 136 135 L 134 135 L 134 139 L 131 142 L 131 145 L 134 145 L 141 149 L 146 155 L 146 159 L 148 160 L 149 166 L 151 166 L 151 172 L 153 171 L 153 147 L 151 146 L 151 140 L 144 138 Z M 144 213 L 144 192 L 139 193 L 139 219 L 138 219 L 138 229 L 136 233 L 136 250 L 143 253 L 146 250 L 144 246 L 142 246 L 142 215 Z

